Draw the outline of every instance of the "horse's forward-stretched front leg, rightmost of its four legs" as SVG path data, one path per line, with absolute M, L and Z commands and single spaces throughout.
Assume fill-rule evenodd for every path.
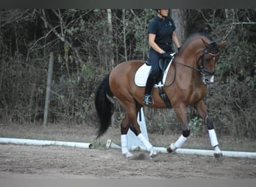
M 199 116 L 204 120 L 204 124 L 207 125 L 208 134 L 210 137 L 210 144 L 214 148 L 215 152 L 214 156 L 215 158 L 219 158 L 220 156 L 222 156 L 222 151 L 219 149 L 219 142 L 213 126 L 213 122 L 207 115 L 207 108 L 203 100 L 201 100 L 201 102 L 199 102 L 198 105 L 196 105 L 196 109 L 198 111 Z

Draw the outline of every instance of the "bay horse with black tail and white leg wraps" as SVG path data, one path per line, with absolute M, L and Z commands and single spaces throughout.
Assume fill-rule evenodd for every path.
M 218 139 L 213 127 L 213 122 L 207 115 L 207 106 L 204 96 L 207 93 L 207 84 L 213 82 L 215 65 L 219 60 L 219 48 L 225 42 L 214 42 L 210 36 L 204 33 L 192 34 L 183 43 L 171 67 L 168 70 L 166 81 L 162 87 L 174 108 L 177 119 L 180 121 L 182 135 L 176 142 L 167 147 L 168 153 L 182 147 L 189 136 L 189 123 L 186 116 L 186 108 L 190 105 L 196 109 L 198 115 L 207 125 L 210 143 L 214 147 L 214 156 L 222 156 Z M 137 114 L 143 103 L 144 87 L 135 85 L 135 73 L 144 61 L 132 60 L 118 64 L 103 79 L 95 96 L 95 107 L 100 117 L 100 128 L 97 138 L 103 135 L 111 123 L 114 112 L 114 104 L 109 97 L 115 97 L 125 108 L 126 114 L 121 121 L 121 153 L 124 156 L 132 156 L 127 148 L 127 132 L 129 129 L 135 133 L 151 156 L 156 156 L 157 151 L 153 145 L 141 133 L 137 122 Z M 169 108 L 158 94 L 158 89 L 153 88 L 152 108 Z

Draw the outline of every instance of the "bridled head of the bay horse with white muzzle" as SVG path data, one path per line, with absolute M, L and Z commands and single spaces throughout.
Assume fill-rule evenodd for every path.
M 216 43 L 210 40 L 207 43 L 203 38 L 201 40 L 204 43 L 204 50 L 198 59 L 198 67 L 204 84 L 210 84 L 214 82 L 215 64 L 219 61 L 219 47 L 224 46 L 225 42 Z

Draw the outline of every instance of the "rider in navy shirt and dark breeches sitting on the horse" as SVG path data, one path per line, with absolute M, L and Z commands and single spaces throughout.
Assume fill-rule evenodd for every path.
M 151 92 L 153 85 L 156 84 L 156 78 L 159 76 L 159 59 L 171 59 L 171 53 L 174 52 L 171 48 L 172 41 L 177 49 L 180 49 L 180 42 L 174 32 L 176 27 L 168 13 L 168 9 L 158 9 L 157 16 L 150 22 L 147 30 L 151 69 L 144 91 L 143 102 L 146 105 L 153 105 Z

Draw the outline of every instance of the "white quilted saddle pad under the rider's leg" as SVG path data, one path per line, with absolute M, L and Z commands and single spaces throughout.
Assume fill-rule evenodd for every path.
M 171 58 L 171 62 L 174 58 Z M 163 84 L 165 84 L 165 79 L 168 73 L 169 68 L 171 67 L 171 62 L 168 64 L 168 67 L 165 70 L 165 73 L 162 78 Z M 145 87 L 147 82 L 147 76 L 150 72 L 151 66 L 147 66 L 147 64 L 143 64 L 141 67 L 138 68 L 137 72 L 135 73 L 135 85 L 139 87 Z M 154 87 L 162 87 L 163 84 L 159 82 L 158 84 L 154 85 Z

